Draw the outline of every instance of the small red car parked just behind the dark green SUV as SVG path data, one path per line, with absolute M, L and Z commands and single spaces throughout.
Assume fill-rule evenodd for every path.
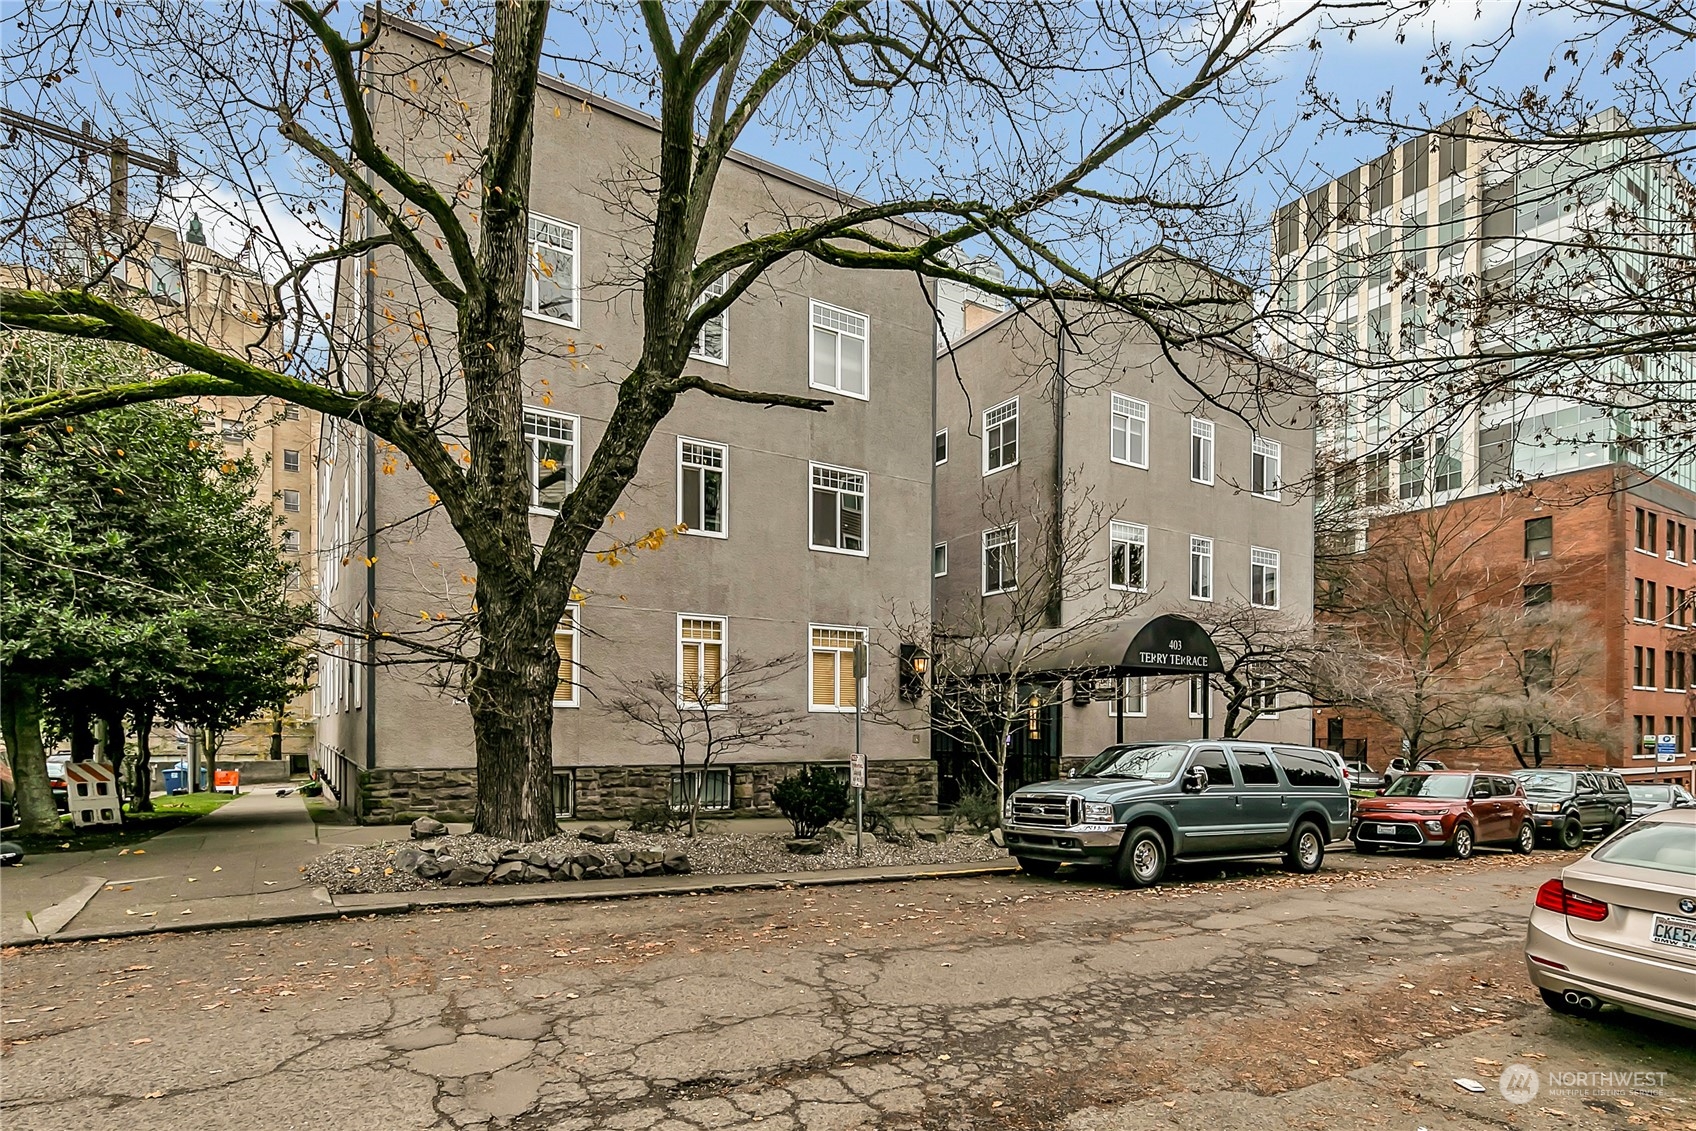
M 1504 773 L 1404 773 L 1355 807 L 1355 851 L 1447 850 L 1465 860 L 1479 844 L 1528 853 L 1537 844 L 1525 790 Z

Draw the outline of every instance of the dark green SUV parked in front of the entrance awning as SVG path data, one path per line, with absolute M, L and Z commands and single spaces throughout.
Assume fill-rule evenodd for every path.
M 1111 866 L 1119 883 L 1158 883 L 1172 860 L 1282 855 L 1318 872 L 1348 833 L 1348 785 L 1311 746 L 1174 741 L 1109 746 L 1062 782 L 1016 790 L 1007 851 L 1033 875 L 1063 863 Z

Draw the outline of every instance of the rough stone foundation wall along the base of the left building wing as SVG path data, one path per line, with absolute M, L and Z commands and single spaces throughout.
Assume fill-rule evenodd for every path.
M 734 763 L 731 809 L 714 816 L 775 817 L 772 787 L 801 763 Z M 670 766 L 573 766 L 575 817 L 617 821 L 633 809 L 663 805 L 672 795 Z M 936 812 L 936 763 L 872 761 L 867 765 L 867 804 L 892 814 Z M 410 821 L 429 814 L 470 821 L 477 809 L 477 770 L 366 770 L 360 775 L 358 816 L 371 824 Z

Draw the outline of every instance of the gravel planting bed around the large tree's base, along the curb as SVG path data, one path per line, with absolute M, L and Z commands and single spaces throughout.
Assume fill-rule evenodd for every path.
M 785 836 L 738 836 L 734 833 L 702 833 L 700 836 L 663 836 L 619 829 L 617 844 L 592 844 L 575 834 L 561 834 L 527 844 L 526 848 L 560 850 L 566 853 L 599 853 L 609 848 L 631 851 L 658 850 L 689 856 L 694 875 L 745 875 L 765 872 L 816 872 L 826 868 L 870 868 L 890 865 L 965 863 L 972 860 L 999 860 L 1006 850 L 997 848 L 980 833 L 960 833 L 941 844 L 928 841 L 885 843 L 865 838 L 863 856 L 853 853 L 853 834 L 843 844 L 824 843 L 819 856 L 801 856 L 784 848 Z M 404 844 L 431 846 L 453 856 L 485 853 L 499 856 L 512 841 L 466 833 L 461 836 L 436 836 L 427 841 L 383 841 L 380 844 L 351 844 L 312 860 L 302 872 L 305 880 L 324 885 L 332 894 L 344 892 L 421 892 L 444 885 L 397 868 L 393 856 Z M 633 878 L 639 883 L 641 878 Z

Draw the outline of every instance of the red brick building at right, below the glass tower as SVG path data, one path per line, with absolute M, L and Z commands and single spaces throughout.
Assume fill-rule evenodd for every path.
M 1460 604 L 1559 600 L 1581 605 L 1582 627 L 1596 632 L 1581 695 L 1594 697 L 1608 741 L 1545 736 L 1543 763 L 1611 765 L 1628 780 L 1696 788 L 1696 493 L 1613 465 L 1381 515 L 1369 541 L 1433 519 L 1453 531 L 1442 583 Z M 1319 710 L 1314 731 L 1336 749 L 1364 744 L 1375 768 L 1401 753 L 1403 733 L 1377 716 Z M 1457 768 L 1520 765 L 1506 743 L 1435 756 Z

